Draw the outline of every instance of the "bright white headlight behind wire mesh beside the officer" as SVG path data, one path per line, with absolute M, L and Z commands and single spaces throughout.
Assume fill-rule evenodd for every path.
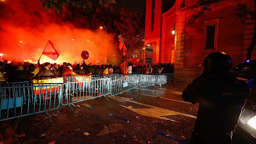
M 254 138 L 256 138 L 256 113 L 244 108 L 238 123 L 238 126 L 240 126 L 244 131 L 250 133 Z

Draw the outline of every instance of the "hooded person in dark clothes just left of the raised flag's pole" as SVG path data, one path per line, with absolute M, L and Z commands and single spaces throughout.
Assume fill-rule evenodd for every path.
M 29 80 L 29 76 L 35 76 L 35 74 L 23 69 L 22 66 L 18 66 L 14 72 L 14 82 L 25 82 Z

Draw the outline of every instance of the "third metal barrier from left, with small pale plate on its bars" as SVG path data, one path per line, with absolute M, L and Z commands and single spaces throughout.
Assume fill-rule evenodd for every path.
M 110 82 L 110 86 L 112 88 L 111 95 L 115 96 L 117 94 L 135 90 L 137 93 L 138 91 L 135 89 L 139 86 L 139 77 L 138 76 L 126 76 L 121 79 L 113 80 Z

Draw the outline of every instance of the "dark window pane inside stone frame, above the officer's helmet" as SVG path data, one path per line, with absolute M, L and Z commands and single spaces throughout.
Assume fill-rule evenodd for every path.
M 205 49 L 214 49 L 215 42 L 215 25 L 206 26 L 206 45 Z

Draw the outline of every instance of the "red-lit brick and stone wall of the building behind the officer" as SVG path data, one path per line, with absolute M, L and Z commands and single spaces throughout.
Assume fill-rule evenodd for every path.
M 161 13 L 161 0 L 156 0 L 155 26 L 150 31 L 152 0 L 147 0 L 145 44 L 156 42 L 155 62 L 168 62 L 171 60 L 171 52 L 174 50 L 175 77 L 176 79 L 191 80 L 198 76 L 198 67 L 203 58 L 211 52 L 220 51 L 228 53 L 233 59 L 233 66 L 246 58 L 246 47 L 252 38 L 253 26 L 247 26 L 235 19 L 236 4 L 246 4 L 253 8 L 253 1 L 237 0 L 234 4 L 231 0 L 224 0 L 212 7 L 212 12 L 200 16 L 198 20 L 190 24 L 194 11 L 188 11 L 197 0 L 185 0 L 185 6 L 180 7 L 183 0 L 177 0 L 174 6 L 167 12 Z M 235 6 L 234 6 L 235 5 Z M 157 12 L 159 10 L 159 12 Z M 175 22 L 175 35 L 172 35 Z M 205 50 L 205 27 L 211 23 L 216 25 L 216 49 Z M 159 28 L 160 26 L 160 28 Z M 159 52 L 159 54 L 158 54 Z M 252 59 L 256 59 L 256 51 L 252 52 Z

